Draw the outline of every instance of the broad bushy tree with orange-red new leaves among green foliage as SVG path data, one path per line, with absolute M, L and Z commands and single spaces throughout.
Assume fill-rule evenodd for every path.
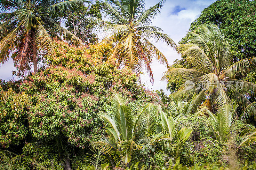
M 59 160 L 64 152 L 73 155 L 74 151 L 88 150 L 92 140 L 105 134 L 98 113 L 113 113 L 114 93 L 123 96 L 134 111 L 148 102 L 158 102 L 155 94 L 136 84 L 137 76 L 131 69 L 118 69 L 116 59 L 111 57 L 110 45 L 76 48 L 58 41 L 54 47 L 56 55 L 45 56 L 48 67 L 32 74 L 20 85 L 19 91 L 23 97 L 26 96 L 27 105 L 13 123 L 14 129 L 9 129 L 9 132 L 0 129 L 2 148 L 23 147 L 20 152 L 28 165 L 33 159 L 49 161 L 44 156 L 36 157 L 41 154 L 39 152 L 47 152 L 46 155 Z M 5 96 L 5 93 L 0 92 L 0 96 Z M 8 102 L 12 100 L 8 98 Z M 12 109 L 15 110 L 14 107 Z M 0 119 L 3 126 L 14 116 L 10 114 L 13 110 L 6 107 L 1 108 L 1 115 L 4 113 L 8 116 Z M 42 149 L 49 149 L 41 151 L 38 142 Z M 60 144 L 62 149 L 58 146 Z

